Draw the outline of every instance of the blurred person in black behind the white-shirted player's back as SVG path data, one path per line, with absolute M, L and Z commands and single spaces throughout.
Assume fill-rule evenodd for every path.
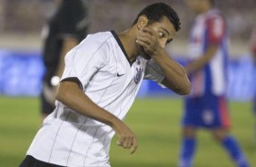
M 59 0 L 54 15 L 43 29 L 44 87 L 41 94 L 43 119 L 54 111 L 56 86 L 64 71 L 64 55 L 84 39 L 88 29 L 87 1 Z

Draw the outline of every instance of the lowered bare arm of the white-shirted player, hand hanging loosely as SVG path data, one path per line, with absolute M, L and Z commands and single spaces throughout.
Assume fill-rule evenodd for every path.
M 64 80 L 61 82 L 57 89 L 56 100 L 78 113 L 111 126 L 119 137 L 117 144 L 125 149 L 131 148 L 131 153 L 136 151 L 138 147 L 137 139 L 129 127 L 112 113 L 94 103 L 83 93 L 79 82 L 76 80 Z

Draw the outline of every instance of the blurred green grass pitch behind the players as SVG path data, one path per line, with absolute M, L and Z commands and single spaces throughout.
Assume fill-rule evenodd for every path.
M 36 98 L 0 97 L 0 167 L 16 167 L 40 127 Z M 181 142 L 182 101 L 178 99 L 137 99 L 126 117 L 136 133 L 139 147 L 133 155 L 111 147 L 113 167 L 175 167 Z M 241 143 L 251 166 L 256 166 L 253 142 L 254 118 L 250 103 L 231 103 L 232 134 Z M 195 167 L 232 167 L 229 156 L 212 140 L 210 133 L 198 136 Z

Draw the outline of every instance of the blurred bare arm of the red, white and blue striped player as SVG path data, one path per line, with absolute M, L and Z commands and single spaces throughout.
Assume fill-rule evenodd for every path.
M 211 44 L 205 54 L 203 54 L 199 59 L 185 66 L 187 74 L 192 74 L 194 72 L 197 72 L 198 70 L 201 70 L 206 64 L 208 64 L 212 60 L 213 56 L 217 53 L 217 51 L 218 44 Z

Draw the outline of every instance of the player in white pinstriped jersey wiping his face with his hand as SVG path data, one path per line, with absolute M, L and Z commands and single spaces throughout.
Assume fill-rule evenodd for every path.
M 190 92 L 183 67 L 164 46 L 180 29 L 171 6 L 148 5 L 130 29 L 89 34 L 65 56 L 56 108 L 44 120 L 21 167 L 109 167 L 114 133 L 135 152 L 133 131 L 123 123 L 143 79 L 179 94 Z

